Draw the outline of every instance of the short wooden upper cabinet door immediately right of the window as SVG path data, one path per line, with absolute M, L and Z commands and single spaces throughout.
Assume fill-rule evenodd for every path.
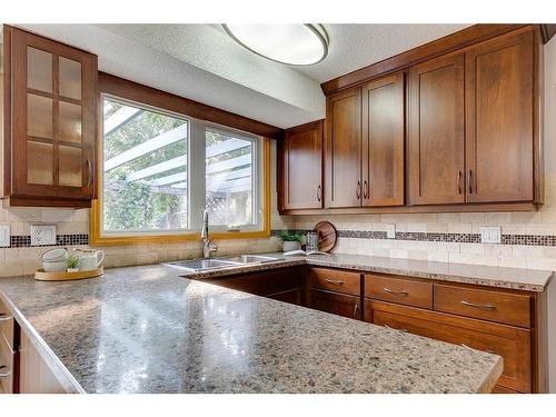
M 322 120 L 286 130 L 282 209 L 322 208 Z

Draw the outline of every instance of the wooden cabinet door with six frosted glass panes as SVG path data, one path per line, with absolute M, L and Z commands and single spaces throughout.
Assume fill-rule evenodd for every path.
M 14 196 L 92 198 L 97 58 L 10 28 Z

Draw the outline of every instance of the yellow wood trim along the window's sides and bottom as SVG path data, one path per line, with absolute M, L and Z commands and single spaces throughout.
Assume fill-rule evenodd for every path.
M 270 140 L 262 138 L 262 229 L 254 231 L 225 231 L 210 234 L 211 239 L 257 239 L 268 238 L 270 236 Z M 98 141 L 97 155 L 102 152 L 102 138 Z M 97 172 L 100 171 L 100 161 L 97 163 Z M 97 176 L 97 190 L 100 190 L 101 176 Z M 100 193 L 99 193 L 100 196 Z M 102 236 L 101 227 L 101 199 L 92 200 L 90 220 L 89 220 L 89 244 L 92 246 L 110 246 L 110 245 L 145 245 L 145 244 L 176 244 L 182 241 L 200 240 L 199 232 L 185 234 L 160 234 L 145 236 Z

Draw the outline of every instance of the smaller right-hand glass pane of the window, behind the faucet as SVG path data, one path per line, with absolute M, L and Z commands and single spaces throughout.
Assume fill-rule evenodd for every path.
M 207 129 L 206 147 L 210 224 L 254 225 L 254 141 Z

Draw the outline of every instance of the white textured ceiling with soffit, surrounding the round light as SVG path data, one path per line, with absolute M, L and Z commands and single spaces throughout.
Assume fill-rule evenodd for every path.
M 280 128 L 325 116 L 319 85 L 465 24 L 325 24 L 328 57 L 288 67 L 237 44 L 220 24 L 22 24 L 99 56 L 99 69 Z

